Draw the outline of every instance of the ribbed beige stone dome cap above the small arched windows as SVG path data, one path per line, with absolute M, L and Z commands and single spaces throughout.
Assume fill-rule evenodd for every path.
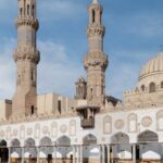
M 147 76 L 155 74 L 163 74 L 163 51 L 143 65 L 139 74 L 139 82 Z

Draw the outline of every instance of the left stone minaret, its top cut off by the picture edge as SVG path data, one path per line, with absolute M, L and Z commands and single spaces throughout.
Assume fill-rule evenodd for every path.
M 17 48 L 14 52 L 16 63 L 16 90 L 13 97 L 12 115 L 27 115 L 36 112 L 37 64 L 39 51 L 36 45 L 36 32 L 39 27 L 36 18 L 36 0 L 17 0 L 18 16 Z

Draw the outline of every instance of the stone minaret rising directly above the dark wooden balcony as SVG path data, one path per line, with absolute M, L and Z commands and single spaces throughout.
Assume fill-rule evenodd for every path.
M 87 102 L 90 105 L 103 105 L 105 98 L 105 70 L 108 55 L 103 52 L 104 26 L 102 25 L 102 5 L 92 0 L 88 7 L 89 25 L 87 36 L 89 51 L 84 59 L 87 70 Z

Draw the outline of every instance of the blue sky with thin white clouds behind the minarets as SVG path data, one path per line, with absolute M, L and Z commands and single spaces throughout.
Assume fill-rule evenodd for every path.
M 37 0 L 40 28 L 38 93 L 73 97 L 75 82 L 86 77 L 83 58 L 87 52 L 87 5 L 91 0 Z M 104 52 L 109 54 L 106 93 L 122 98 L 136 87 L 141 66 L 163 45 L 163 0 L 100 0 L 106 28 Z M 0 0 L 0 99 L 15 90 L 17 0 Z

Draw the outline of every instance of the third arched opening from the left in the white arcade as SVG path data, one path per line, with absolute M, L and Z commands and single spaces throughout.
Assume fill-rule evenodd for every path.
M 35 147 L 35 140 L 33 138 L 25 140 L 24 161 L 28 163 L 36 163 L 37 161 L 37 150 Z

